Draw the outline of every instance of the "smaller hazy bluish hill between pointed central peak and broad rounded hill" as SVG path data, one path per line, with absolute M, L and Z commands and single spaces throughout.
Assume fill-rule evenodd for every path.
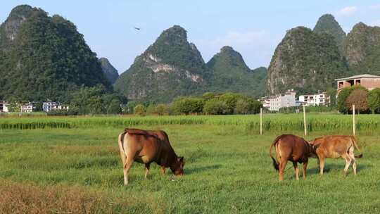
M 224 46 L 219 53 L 208 61 L 210 73 L 208 91 L 238 92 L 251 96 L 262 96 L 262 82 L 265 81 L 262 69 L 251 70 L 243 61 L 241 54 L 230 46 Z M 257 71 L 257 72 L 256 72 Z

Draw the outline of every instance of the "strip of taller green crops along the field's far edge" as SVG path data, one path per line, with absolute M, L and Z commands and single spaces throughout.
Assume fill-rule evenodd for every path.
M 357 131 L 380 131 L 380 115 L 357 115 Z M 198 116 L 97 116 L 97 117 L 36 117 L 1 118 L 0 130 L 26 130 L 44 128 L 133 127 L 137 125 L 235 125 L 247 132 L 258 133 L 259 115 L 198 115 Z M 353 129 L 352 115 L 308 114 L 308 132 Z M 303 131 L 302 114 L 265 114 L 264 132 Z

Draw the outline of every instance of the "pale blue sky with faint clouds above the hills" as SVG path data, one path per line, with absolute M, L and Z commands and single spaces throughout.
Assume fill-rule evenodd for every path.
M 346 33 L 359 22 L 380 25 L 379 1 L 343 0 L 6 0 L 0 3 L 0 22 L 19 4 L 42 8 L 75 23 L 92 51 L 108 58 L 119 73 L 172 25 L 187 30 L 189 41 L 196 44 L 206 62 L 229 45 L 250 68 L 267 67 L 286 30 L 300 25 L 312 28 L 324 13 L 333 14 Z

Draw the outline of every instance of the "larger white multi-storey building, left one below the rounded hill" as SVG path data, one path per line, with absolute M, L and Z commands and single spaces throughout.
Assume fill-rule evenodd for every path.
M 298 106 L 296 103 L 296 92 L 291 89 L 284 94 L 277 94 L 263 99 L 262 106 L 270 111 L 279 111 L 280 108 Z

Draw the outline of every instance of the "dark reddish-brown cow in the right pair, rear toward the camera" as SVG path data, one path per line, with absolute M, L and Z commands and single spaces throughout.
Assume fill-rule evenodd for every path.
M 277 160 L 272 156 L 272 147 L 276 149 Z M 302 137 L 293 134 L 282 134 L 274 139 L 270 146 L 270 157 L 273 160 L 274 168 L 279 171 L 279 180 L 284 180 L 284 171 L 286 163 L 290 160 L 293 163 L 296 172 L 296 180 L 298 177 L 298 163 L 303 163 L 303 178 L 306 178 L 306 169 L 308 168 L 308 158 L 312 156 L 312 146 Z

